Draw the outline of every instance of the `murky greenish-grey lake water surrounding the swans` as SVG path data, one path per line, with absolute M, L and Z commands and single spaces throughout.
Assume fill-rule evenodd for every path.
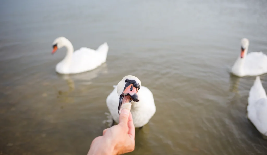
M 0 154 L 87 154 L 108 127 L 112 86 L 129 74 L 152 91 L 157 108 L 136 129 L 129 154 L 266 154 L 267 141 L 246 118 L 255 77 L 229 73 L 243 37 L 249 52 L 267 54 L 266 7 L 265 0 L 2 0 Z M 107 41 L 107 62 L 57 74 L 66 54 L 51 55 L 59 36 L 74 49 Z M 261 79 L 267 89 L 267 75 Z

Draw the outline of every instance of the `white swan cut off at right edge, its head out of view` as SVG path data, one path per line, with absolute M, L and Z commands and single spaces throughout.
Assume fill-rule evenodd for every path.
M 249 120 L 261 134 L 267 136 L 267 96 L 259 76 L 249 91 L 248 103 Z

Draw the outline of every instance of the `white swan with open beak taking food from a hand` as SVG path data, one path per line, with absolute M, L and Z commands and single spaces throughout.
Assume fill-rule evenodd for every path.
M 131 75 L 123 77 L 118 85 L 113 87 L 113 91 L 106 100 L 113 123 L 119 122 L 119 111 L 122 105 L 130 102 L 135 128 L 142 128 L 146 125 L 156 112 L 152 92 L 147 87 L 141 86 L 141 81 Z

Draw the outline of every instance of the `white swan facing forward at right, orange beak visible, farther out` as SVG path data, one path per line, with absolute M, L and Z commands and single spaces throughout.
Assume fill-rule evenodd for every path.
M 235 61 L 231 72 L 239 77 L 257 76 L 267 73 L 267 55 L 262 52 L 250 52 L 248 55 L 249 40 L 241 40 L 241 54 Z

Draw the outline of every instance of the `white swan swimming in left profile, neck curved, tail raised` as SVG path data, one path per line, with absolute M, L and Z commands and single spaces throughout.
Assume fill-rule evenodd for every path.
M 65 37 L 58 37 L 53 42 L 52 54 L 62 47 L 67 48 L 67 54 L 56 65 L 56 72 L 60 74 L 77 74 L 97 68 L 106 62 L 109 49 L 108 44 L 105 42 L 97 50 L 81 47 L 73 52 L 72 43 Z

